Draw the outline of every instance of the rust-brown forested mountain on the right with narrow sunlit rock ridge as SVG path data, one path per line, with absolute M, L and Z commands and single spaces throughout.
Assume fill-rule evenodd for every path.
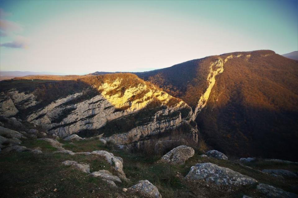
M 190 105 L 215 149 L 297 160 L 297 61 L 271 50 L 234 52 L 137 75 Z

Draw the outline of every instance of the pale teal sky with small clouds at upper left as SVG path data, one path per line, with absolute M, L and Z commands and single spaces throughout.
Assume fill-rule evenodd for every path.
M 3 1 L 0 71 L 148 71 L 298 50 L 298 1 Z

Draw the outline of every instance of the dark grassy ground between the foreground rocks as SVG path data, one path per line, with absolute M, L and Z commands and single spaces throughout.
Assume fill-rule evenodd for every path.
M 250 195 L 262 197 L 255 186 L 228 187 L 214 183 L 189 181 L 184 177 L 196 163 L 211 162 L 251 176 L 262 183 L 272 184 L 289 192 L 296 192 L 296 181 L 279 181 L 260 171 L 240 165 L 237 162 L 201 158 L 199 152 L 187 160 L 185 165 L 156 164 L 160 156 L 146 156 L 142 153 L 128 153 L 116 150 L 112 144 L 102 144 L 97 140 L 64 142 L 64 148 L 73 152 L 92 152 L 107 150 L 124 160 L 124 173 L 130 180 L 117 183 L 119 188 L 112 189 L 99 178 L 61 164 L 65 160 L 75 160 L 90 165 L 90 172 L 106 169 L 115 174 L 115 170 L 102 158 L 93 155 L 60 154 L 42 140 L 25 140 L 21 145 L 28 148 L 40 147 L 43 154 L 29 152 L 0 154 L 0 197 L 144 197 L 139 192 L 123 192 L 123 187 L 130 187 L 139 180 L 147 179 L 153 183 L 163 198 L 178 197 L 242 197 Z M 105 166 L 105 168 L 103 168 Z M 257 166 L 257 164 L 255 165 Z M 261 167 L 261 165 L 258 165 Z M 264 166 L 264 165 L 262 165 Z M 273 165 L 272 165 L 273 166 Z M 281 166 L 281 165 L 280 165 Z M 279 166 L 278 166 L 279 167 Z M 295 167 L 291 167 L 295 169 Z M 297 168 L 297 167 L 296 167 Z M 57 189 L 54 192 L 54 189 Z M 36 194 L 35 194 L 36 193 Z M 297 192 L 296 192 L 297 193 Z

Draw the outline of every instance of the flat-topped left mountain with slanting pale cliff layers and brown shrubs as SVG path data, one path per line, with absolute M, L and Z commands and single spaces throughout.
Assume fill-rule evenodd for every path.
M 133 74 L 9 80 L 0 87 L 0 115 L 21 117 L 53 136 L 99 135 L 131 150 L 153 145 L 153 152 L 161 140 L 198 141 L 192 109 Z

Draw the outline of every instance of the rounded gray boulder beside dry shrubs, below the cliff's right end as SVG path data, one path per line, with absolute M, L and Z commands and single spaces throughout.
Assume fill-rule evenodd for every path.
M 184 164 L 194 154 L 195 150 L 191 147 L 181 145 L 169 151 L 157 163 Z

